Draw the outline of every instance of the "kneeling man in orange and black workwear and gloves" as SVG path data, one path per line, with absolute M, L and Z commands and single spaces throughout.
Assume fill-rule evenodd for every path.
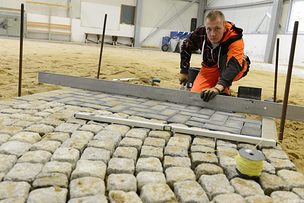
M 208 102 L 218 94 L 230 95 L 232 81 L 249 70 L 250 60 L 244 55 L 243 30 L 225 21 L 221 11 L 210 11 L 205 26 L 199 27 L 183 42 L 180 62 L 180 83 L 188 80 L 191 53 L 202 51 L 202 67 L 192 92 L 200 92 Z

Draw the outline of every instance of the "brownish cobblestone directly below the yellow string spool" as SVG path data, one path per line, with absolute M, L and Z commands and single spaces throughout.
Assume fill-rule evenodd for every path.
M 253 180 L 234 178 L 230 181 L 230 183 L 234 187 L 235 192 L 243 197 L 264 195 L 264 191 L 262 190 L 261 186 Z

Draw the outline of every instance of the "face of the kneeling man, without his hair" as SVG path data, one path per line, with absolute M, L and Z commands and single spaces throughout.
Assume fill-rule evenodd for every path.
M 209 41 L 212 44 L 219 43 L 225 32 L 224 22 L 220 18 L 216 18 L 213 21 L 207 18 L 205 27 Z

